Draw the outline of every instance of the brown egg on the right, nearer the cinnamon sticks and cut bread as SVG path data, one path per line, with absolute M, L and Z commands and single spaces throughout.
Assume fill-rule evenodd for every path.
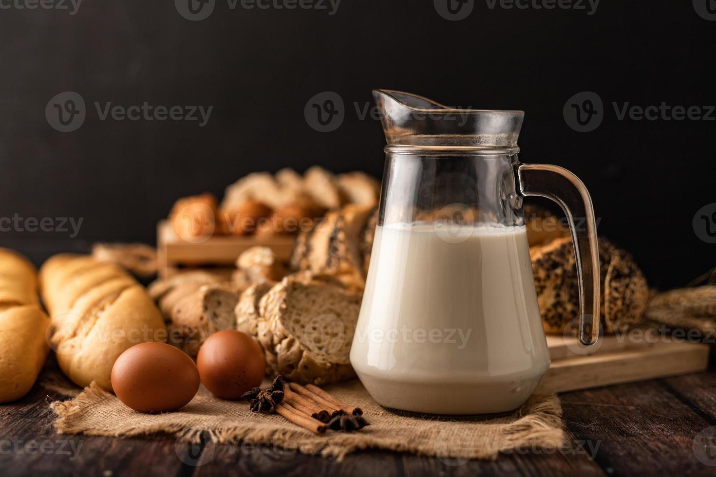
M 222 399 L 241 398 L 260 385 L 266 373 L 261 345 L 236 330 L 211 335 L 201 345 L 196 365 L 203 385 Z

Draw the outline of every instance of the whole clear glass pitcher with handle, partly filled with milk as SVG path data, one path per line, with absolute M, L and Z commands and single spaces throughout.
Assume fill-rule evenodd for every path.
M 599 328 L 599 259 L 589 192 L 566 169 L 519 162 L 521 111 L 373 94 L 387 159 L 353 368 L 387 408 L 516 409 L 549 367 L 523 197 L 549 197 L 566 213 L 579 340 L 590 345 Z M 575 227 L 575 217 L 584 226 Z

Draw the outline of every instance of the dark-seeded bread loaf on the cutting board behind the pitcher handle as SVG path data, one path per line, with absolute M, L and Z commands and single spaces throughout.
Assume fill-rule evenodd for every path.
M 547 333 L 561 334 L 579 317 L 579 285 L 570 237 L 531 247 L 532 269 L 542 323 Z M 601 324 L 614 333 L 642 320 L 649 289 L 632 255 L 599 237 Z

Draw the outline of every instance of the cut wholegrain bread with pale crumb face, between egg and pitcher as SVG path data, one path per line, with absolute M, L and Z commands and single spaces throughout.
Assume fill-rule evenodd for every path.
M 259 300 L 256 320 L 269 372 L 299 383 L 354 378 L 349 351 L 361 298 L 309 274 L 289 275 L 274 285 Z

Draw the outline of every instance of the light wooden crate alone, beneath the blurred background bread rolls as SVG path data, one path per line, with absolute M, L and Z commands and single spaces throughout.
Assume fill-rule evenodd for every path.
M 294 248 L 294 235 L 216 235 L 205 242 L 190 243 L 176 235 L 168 220 L 157 225 L 159 276 L 168 277 L 179 267 L 233 268 L 244 250 L 262 245 L 274 250 L 279 260 L 289 260 Z

